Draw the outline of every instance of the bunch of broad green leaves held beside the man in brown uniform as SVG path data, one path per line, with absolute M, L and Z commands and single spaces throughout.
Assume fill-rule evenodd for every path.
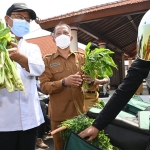
M 111 77 L 113 75 L 112 67 L 117 69 L 116 64 L 110 56 L 114 52 L 105 48 L 91 50 L 91 44 L 89 42 L 85 48 L 85 64 L 82 66 L 84 74 L 90 75 L 92 79 L 96 77 Z M 83 82 L 83 86 L 84 88 L 88 88 L 86 82 Z

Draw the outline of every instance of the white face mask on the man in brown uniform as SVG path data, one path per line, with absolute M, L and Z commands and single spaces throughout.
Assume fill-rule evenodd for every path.
M 64 34 L 55 38 L 56 45 L 61 49 L 65 49 L 70 45 L 70 37 Z

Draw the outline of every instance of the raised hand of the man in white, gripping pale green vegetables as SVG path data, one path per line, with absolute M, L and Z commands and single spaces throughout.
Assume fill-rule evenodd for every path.
M 9 45 L 12 46 L 12 48 L 7 49 L 9 52 L 9 57 L 11 60 L 14 60 L 15 62 L 18 62 L 21 58 L 21 54 L 19 52 L 18 46 L 16 43 L 9 42 Z

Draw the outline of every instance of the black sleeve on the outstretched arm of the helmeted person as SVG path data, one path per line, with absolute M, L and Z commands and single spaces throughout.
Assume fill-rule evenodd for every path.
M 119 85 L 118 89 L 107 102 L 93 123 L 99 130 L 104 129 L 118 113 L 124 108 L 128 101 L 135 94 L 136 90 L 148 76 L 150 71 L 150 61 L 136 59 L 128 70 L 127 76 Z

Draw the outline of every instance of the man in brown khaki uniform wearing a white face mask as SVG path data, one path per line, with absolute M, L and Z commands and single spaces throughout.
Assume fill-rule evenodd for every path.
M 57 45 L 56 53 L 44 57 L 45 71 L 40 77 L 41 90 L 50 94 L 51 130 L 66 119 L 83 112 L 84 96 L 81 88 L 84 54 L 72 52 L 70 41 L 71 29 L 66 24 L 59 24 L 54 30 L 54 42 Z M 86 82 L 91 83 L 91 78 Z M 60 134 L 53 135 L 54 149 L 63 150 L 64 143 Z

